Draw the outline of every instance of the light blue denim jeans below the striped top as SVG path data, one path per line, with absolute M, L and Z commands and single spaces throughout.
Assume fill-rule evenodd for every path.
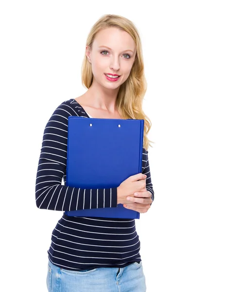
M 124 268 L 70 271 L 48 261 L 49 292 L 146 292 L 142 262 Z

